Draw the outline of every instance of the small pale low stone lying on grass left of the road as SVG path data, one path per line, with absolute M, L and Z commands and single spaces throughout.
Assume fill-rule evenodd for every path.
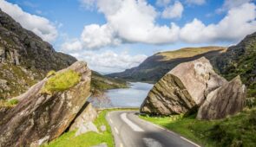
M 99 132 L 97 127 L 92 122 L 87 122 L 79 126 L 78 130 L 75 132 L 75 137 L 89 131 L 95 131 L 97 133 Z

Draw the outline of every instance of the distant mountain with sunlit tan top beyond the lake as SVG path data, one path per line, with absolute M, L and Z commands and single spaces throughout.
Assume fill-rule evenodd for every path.
M 108 74 L 109 77 L 124 80 L 137 80 L 156 82 L 168 71 L 182 62 L 194 61 L 202 56 L 208 60 L 225 52 L 224 47 L 181 48 L 175 51 L 167 51 L 148 57 L 138 67 L 127 69 L 121 73 Z

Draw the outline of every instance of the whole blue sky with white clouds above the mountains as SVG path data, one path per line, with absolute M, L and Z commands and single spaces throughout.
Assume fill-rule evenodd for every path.
M 256 31 L 254 0 L 0 0 L 57 51 L 102 73 L 159 51 L 229 46 Z

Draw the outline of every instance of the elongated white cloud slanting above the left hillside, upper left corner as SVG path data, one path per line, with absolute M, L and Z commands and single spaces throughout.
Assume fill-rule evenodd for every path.
M 0 8 L 9 14 L 16 22 L 19 22 L 23 28 L 33 31 L 46 42 L 53 42 L 57 37 L 56 26 L 42 16 L 31 15 L 23 11 L 18 5 L 0 0 Z

